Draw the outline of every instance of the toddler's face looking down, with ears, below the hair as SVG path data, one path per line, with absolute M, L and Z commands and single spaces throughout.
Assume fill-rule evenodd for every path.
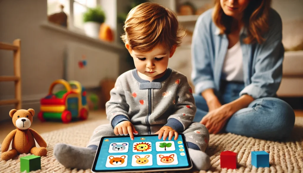
M 147 53 L 131 50 L 129 53 L 134 59 L 135 67 L 139 73 L 154 80 L 160 78 L 168 66 L 168 59 L 172 57 L 175 52 L 175 47 L 171 50 L 158 45 Z

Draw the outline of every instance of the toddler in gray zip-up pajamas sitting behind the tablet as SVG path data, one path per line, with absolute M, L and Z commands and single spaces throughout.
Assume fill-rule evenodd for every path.
M 106 103 L 110 124 L 98 126 L 87 147 L 56 144 L 54 155 L 66 168 L 89 169 L 103 136 L 158 134 L 163 140 L 186 137 L 193 166 L 206 170 L 208 129 L 193 123 L 196 106 L 185 75 L 168 68 L 185 33 L 176 15 L 159 4 L 146 2 L 133 8 L 125 21 L 122 40 L 135 69 L 120 75 Z M 108 57 L 110 58 L 110 57 Z

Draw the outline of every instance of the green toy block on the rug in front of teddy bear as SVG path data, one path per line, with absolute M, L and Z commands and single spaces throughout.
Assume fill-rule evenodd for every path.
M 20 158 L 20 171 L 36 171 L 41 169 L 41 157 L 36 155 L 29 155 Z

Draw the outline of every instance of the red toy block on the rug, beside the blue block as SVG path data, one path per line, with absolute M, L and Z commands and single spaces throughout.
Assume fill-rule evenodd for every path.
M 236 169 L 238 164 L 238 153 L 232 151 L 222 151 L 220 154 L 221 168 Z

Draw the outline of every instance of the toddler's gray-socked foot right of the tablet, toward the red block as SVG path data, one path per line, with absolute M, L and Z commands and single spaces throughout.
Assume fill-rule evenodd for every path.
M 188 152 L 194 168 L 204 171 L 209 169 L 210 158 L 205 152 L 192 148 L 188 148 Z

